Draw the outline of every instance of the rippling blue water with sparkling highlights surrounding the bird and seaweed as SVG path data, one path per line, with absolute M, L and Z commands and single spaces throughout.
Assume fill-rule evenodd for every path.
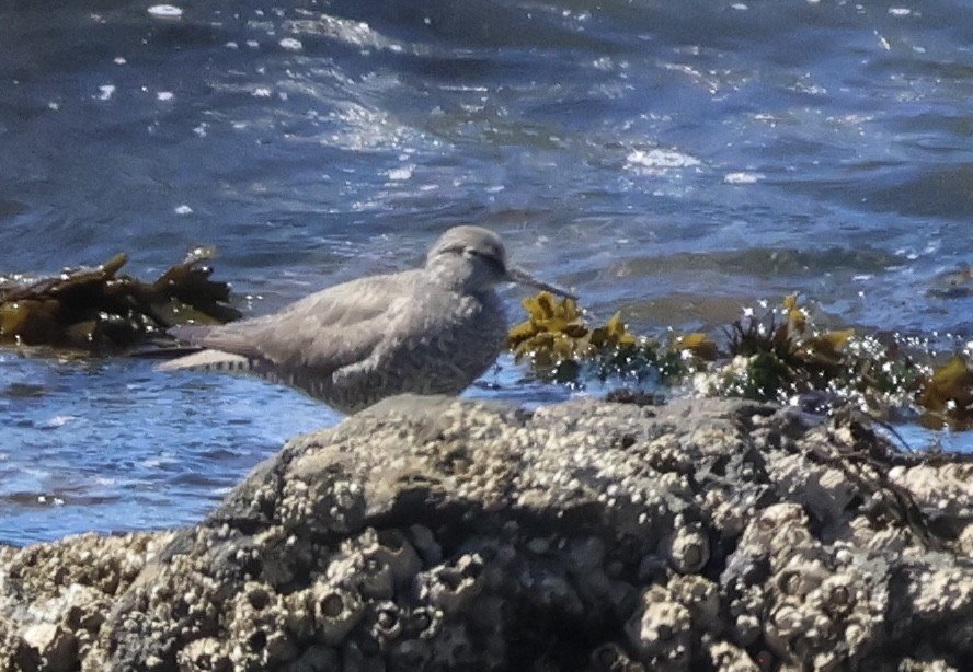
M 151 7 L 0 4 L 0 273 L 126 251 L 148 278 L 209 244 L 261 313 L 469 222 L 640 332 L 799 291 L 973 339 L 973 299 L 927 294 L 973 257 L 965 3 Z M 501 366 L 470 394 L 570 394 Z M 0 541 L 190 523 L 337 420 L 245 379 L 0 354 Z

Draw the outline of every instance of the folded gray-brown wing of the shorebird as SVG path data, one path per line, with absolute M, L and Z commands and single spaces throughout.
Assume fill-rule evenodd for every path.
M 374 355 L 408 311 L 416 271 L 352 280 L 277 313 L 213 327 L 176 327 L 181 340 L 281 367 L 334 371 Z

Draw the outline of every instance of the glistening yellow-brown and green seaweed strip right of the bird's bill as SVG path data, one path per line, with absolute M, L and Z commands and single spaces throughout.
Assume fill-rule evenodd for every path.
M 523 304 L 527 320 L 511 329 L 507 345 L 541 380 L 574 387 L 593 378 L 669 387 L 691 382 L 708 395 L 798 404 L 815 413 L 856 408 L 877 419 L 917 417 L 928 428 L 973 429 L 968 359 L 955 356 L 934 367 L 931 352 L 888 335 L 820 329 L 794 294 L 763 315 L 744 311 L 722 329 L 722 345 L 702 333 L 666 343 L 639 336 L 619 313 L 592 327 L 575 301 L 546 292 Z

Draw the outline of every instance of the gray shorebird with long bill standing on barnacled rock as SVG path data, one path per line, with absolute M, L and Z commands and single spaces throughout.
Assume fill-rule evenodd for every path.
M 504 282 L 574 298 L 508 266 L 493 231 L 455 227 L 422 268 L 329 287 L 262 317 L 175 327 L 206 349 L 159 369 L 249 372 L 346 414 L 396 394 L 459 394 L 503 348 L 507 318 L 494 288 Z

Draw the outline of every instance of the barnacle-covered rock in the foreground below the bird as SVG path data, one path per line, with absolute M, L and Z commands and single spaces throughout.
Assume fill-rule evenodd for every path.
M 0 661 L 960 669 L 973 480 L 947 462 L 743 402 L 399 397 L 194 528 L 0 549 Z

